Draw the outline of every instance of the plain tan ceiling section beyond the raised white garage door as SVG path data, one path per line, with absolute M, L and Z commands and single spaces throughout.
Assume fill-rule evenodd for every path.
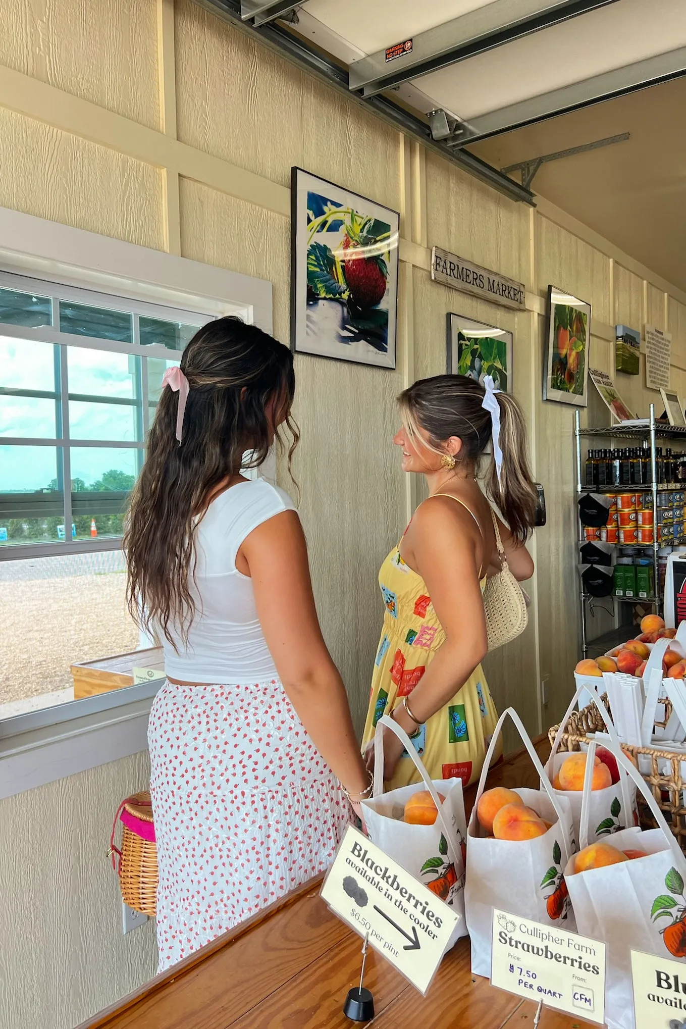
M 496 168 L 619 133 L 541 166 L 533 189 L 686 290 L 686 78 L 476 143 Z M 513 173 L 514 174 L 514 173 Z

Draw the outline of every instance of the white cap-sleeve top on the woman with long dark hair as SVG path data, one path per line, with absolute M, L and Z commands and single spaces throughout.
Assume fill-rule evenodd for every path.
M 197 561 L 189 583 L 195 615 L 187 643 L 172 631 L 178 653 L 163 639 L 167 675 L 228 685 L 278 677 L 252 579 L 238 570 L 236 555 L 253 529 L 286 510 L 295 510 L 291 498 L 263 478 L 238 483 L 210 503 L 195 531 Z

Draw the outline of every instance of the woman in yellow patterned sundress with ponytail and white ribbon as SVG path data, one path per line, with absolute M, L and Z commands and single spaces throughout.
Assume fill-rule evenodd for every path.
M 398 546 L 382 565 L 386 612 L 374 663 L 363 747 L 373 768 L 374 728 L 382 714 L 410 736 L 432 779 L 481 771 L 498 715 L 481 660 L 488 640 L 481 595 L 500 571 L 498 525 L 510 571 L 534 573 L 525 543 L 534 527 L 536 493 L 527 432 L 517 401 L 464 376 L 423 379 L 398 398 L 402 469 L 426 476 L 420 504 Z M 489 494 L 476 481 L 489 445 Z M 501 753 L 496 751 L 496 759 Z M 384 734 L 384 778 L 389 789 L 419 780 L 397 737 Z

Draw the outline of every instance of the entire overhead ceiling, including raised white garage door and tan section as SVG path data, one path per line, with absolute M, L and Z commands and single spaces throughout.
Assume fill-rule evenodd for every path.
M 292 57 L 300 41 L 474 174 L 474 155 L 500 170 L 628 133 L 543 164 L 531 188 L 686 290 L 686 0 L 204 2 Z M 488 173 L 530 199 L 517 173 Z

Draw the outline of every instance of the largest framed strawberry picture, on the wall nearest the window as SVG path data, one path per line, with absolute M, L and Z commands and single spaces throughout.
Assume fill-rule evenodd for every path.
M 291 349 L 396 366 L 397 211 L 291 172 Z

